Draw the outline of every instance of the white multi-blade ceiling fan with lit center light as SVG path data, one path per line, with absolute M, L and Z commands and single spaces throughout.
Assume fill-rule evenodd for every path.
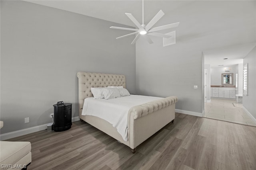
M 146 40 L 148 41 L 148 43 L 152 44 L 153 41 L 150 39 L 150 37 L 148 35 L 152 35 L 152 36 L 156 36 L 156 37 L 163 37 L 163 38 L 170 38 L 171 35 L 166 35 L 166 34 L 162 34 L 162 33 L 157 33 L 156 31 L 161 31 L 164 29 L 169 29 L 169 28 L 173 28 L 173 27 L 178 27 L 178 25 L 180 24 L 179 22 L 176 23 L 171 23 L 168 25 L 162 25 L 160 27 L 153 27 L 155 25 L 155 23 L 160 20 L 160 18 L 162 18 L 162 16 L 164 16 L 164 12 L 162 10 L 160 10 L 155 16 L 154 18 L 152 18 L 152 20 L 145 25 L 144 24 L 144 0 L 142 0 L 142 25 L 140 25 L 140 23 L 134 18 L 134 16 L 132 16 L 132 14 L 129 13 L 125 13 L 126 16 L 128 16 L 128 18 L 130 18 L 130 20 L 132 20 L 132 22 L 138 27 L 138 29 L 133 29 L 133 28 L 124 28 L 124 27 L 110 27 L 113 29 L 124 29 L 124 30 L 129 30 L 129 31 L 135 31 L 134 33 L 130 33 L 127 35 L 123 35 L 121 37 L 117 37 L 116 39 L 120 39 L 120 38 L 124 38 L 124 37 L 128 37 L 130 35 L 134 35 L 136 34 L 135 39 L 132 41 L 132 44 L 135 44 L 136 41 L 138 40 L 138 38 L 140 37 L 140 35 L 143 35 Z M 153 28 L 152 28 L 153 27 Z

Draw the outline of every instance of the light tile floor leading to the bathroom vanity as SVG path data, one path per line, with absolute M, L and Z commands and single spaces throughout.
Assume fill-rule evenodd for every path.
M 204 103 L 204 109 L 204 117 L 207 118 L 256 126 L 243 110 L 242 104 L 236 103 L 236 100 L 211 98 L 211 102 Z

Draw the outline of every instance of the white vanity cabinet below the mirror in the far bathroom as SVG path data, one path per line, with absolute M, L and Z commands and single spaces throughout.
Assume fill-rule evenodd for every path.
M 236 88 L 211 88 L 211 97 L 213 98 L 236 98 Z

